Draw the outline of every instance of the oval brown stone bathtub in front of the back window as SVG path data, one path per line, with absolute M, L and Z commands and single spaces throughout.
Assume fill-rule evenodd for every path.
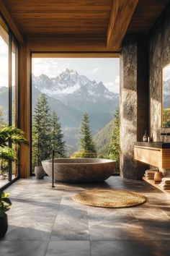
M 103 182 L 113 174 L 116 161 L 99 158 L 57 158 L 54 160 L 54 179 L 58 182 Z M 48 176 L 52 176 L 52 160 L 42 161 Z

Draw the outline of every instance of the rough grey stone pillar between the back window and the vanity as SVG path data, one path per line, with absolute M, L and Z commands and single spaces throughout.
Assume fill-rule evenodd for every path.
M 148 129 L 146 42 L 138 34 L 125 38 L 120 55 L 120 173 L 141 179 L 147 166 L 134 161 L 134 142 Z

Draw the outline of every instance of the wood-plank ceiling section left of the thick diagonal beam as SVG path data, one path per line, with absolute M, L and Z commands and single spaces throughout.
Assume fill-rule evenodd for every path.
M 23 34 L 106 36 L 113 0 L 5 0 Z

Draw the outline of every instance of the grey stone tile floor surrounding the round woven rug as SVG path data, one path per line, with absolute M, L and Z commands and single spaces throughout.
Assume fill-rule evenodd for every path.
M 133 208 L 81 205 L 76 192 L 94 187 L 128 189 L 146 195 Z M 170 194 L 142 181 L 112 176 L 102 184 L 55 184 L 20 179 L 11 192 L 9 230 L 0 256 L 163 256 L 170 255 Z

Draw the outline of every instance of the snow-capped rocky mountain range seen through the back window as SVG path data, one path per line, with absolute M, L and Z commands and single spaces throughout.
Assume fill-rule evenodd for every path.
M 119 95 L 107 90 L 102 82 L 91 81 L 72 69 L 53 78 L 45 74 L 33 75 L 32 85 L 41 93 L 79 111 L 113 113 L 119 103 Z

